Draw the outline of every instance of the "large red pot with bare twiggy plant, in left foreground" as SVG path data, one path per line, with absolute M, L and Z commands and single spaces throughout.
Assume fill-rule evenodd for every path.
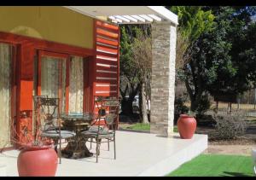
M 49 140 L 42 138 L 39 127 L 40 122 L 36 122 L 38 128 L 34 138 L 29 136 L 27 130 L 26 114 L 22 114 L 21 130 L 22 136 L 26 136 L 26 142 L 19 143 L 20 154 L 17 160 L 20 177 L 53 177 L 58 165 L 58 156 L 52 148 Z M 30 119 L 31 120 L 31 119 Z

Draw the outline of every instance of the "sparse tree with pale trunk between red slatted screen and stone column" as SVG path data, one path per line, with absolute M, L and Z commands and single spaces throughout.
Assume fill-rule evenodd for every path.
M 150 26 L 122 26 L 120 52 L 120 94 L 122 111 L 132 113 L 132 102 L 139 92 L 140 113 L 143 123 L 148 123 L 147 106 L 150 99 L 151 31 Z M 125 96 L 129 94 L 128 99 Z

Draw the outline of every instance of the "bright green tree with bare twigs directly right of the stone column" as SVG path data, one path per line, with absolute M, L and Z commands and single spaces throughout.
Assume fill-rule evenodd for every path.
M 204 94 L 200 74 L 195 76 L 195 66 L 198 62 L 192 61 L 193 47 L 196 40 L 204 32 L 211 32 L 214 26 L 214 15 L 211 10 L 204 10 L 201 6 L 172 6 L 171 10 L 178 15 L 177 29 L 177 78 L 185 82 L 189 94 L 192 111 L 200 110 L 199 105 Z M 195 50 L 195 49 L 194 49 Z M 195 79 L 197 78 L 197 80 Z M 194 85 L 194 84 L 195 85 Z M 201 110 L 200 110 L 201 111 Z

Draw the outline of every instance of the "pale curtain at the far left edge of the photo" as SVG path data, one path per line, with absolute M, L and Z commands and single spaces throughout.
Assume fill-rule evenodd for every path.
M 0 148 L 9 147 L 11 122 L 11 46 L 0 44 Z

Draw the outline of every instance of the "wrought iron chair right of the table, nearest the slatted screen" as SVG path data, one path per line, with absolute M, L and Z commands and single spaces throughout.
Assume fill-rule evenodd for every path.
M 115 147 L 115 130 L 117 125 L 117 119 L 119 115 L 119 99 L 115 97 L 102 97 L 96 96 L 95 106 L 98 112 L 95 116 L 95 120 L 90 126 L 88 131 L 81 132 L 84 138 L 90 139 L 91 142 L 96 142 L 96 162 L 98 162 L 98 155 L 100 154 L 101 143 L 108 140 L 113 142 L 114 160 L 116 159 L 116 147 Z M 103 123 L 102 123 L 103 122 Z M 95 140 L 95 141 L 93 141 Z

